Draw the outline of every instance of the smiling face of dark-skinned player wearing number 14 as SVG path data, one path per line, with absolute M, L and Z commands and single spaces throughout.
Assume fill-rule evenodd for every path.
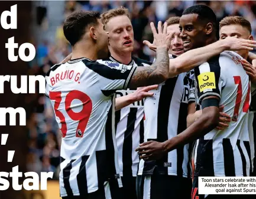
M 197 14 L 188 14 L 182 15 L 180 18 L 180 37 L 182 38 L 185 51 L 206 45 L 204 27 L 200 24 L 197 17 Z

